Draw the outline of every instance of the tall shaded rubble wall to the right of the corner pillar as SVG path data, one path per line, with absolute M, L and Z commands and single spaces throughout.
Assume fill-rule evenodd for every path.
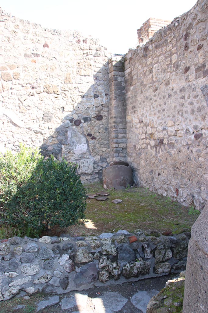
M 127 154 L 141 186 L 204 208 L 208 200 L 208 1 L 125 59 Z

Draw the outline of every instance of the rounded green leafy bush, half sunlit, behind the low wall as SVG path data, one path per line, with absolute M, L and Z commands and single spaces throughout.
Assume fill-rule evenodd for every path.
M 67 227 L 84 218 L 86 193 L 74 164 L 44 160 L 21 146 L 0 156 L 0 223 L 21 235 L 37 236 L 44 227 Z

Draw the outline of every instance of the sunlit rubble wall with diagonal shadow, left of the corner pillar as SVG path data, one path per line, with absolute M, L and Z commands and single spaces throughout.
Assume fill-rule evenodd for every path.
M 109 162 L 109 54 L 80 33 L 0 13 L 0 150 L 41 147 L 98 179 Z

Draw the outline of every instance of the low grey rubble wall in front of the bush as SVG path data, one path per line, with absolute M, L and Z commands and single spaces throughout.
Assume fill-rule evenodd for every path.
M 0 243 L 0 300 L 21 290 L 63 294 L 111 280 L 143 279 L 186 267 L 190 233 L 120 230 L 99 237 L 12 237 Z

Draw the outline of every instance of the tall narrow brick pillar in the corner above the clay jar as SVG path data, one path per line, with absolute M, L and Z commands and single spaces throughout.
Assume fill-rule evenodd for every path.
M 110 161 L 126 161 L 126 103 L 124 83 L 124 57 L 109 59 L 109 142 Z

